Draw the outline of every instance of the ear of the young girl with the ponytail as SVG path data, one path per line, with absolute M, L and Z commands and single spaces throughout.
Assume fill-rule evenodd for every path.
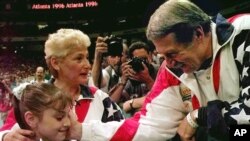
M 31 111 L 25 112 L 24 119 L 26 123 L 31 127 L 31 129 L 35 129 L 39 122 L 38 117 L 35 116 Z

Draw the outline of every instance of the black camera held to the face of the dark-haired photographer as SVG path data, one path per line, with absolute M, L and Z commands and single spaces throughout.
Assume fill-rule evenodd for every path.
M 147 62 L 147 60 L 145 58 L 139 58 L 139 57 L 133 57 L 130 61 L 129 61 L 129 65 L 132 66 L 133 70 L 135 72 L 140 72 L 142 70 L 144 70 L 144 67 L 142 65 L 142 62 L 148 67 L 149 64 Z

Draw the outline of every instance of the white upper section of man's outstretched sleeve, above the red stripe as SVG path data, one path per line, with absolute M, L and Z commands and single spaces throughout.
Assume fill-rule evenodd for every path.
M 133 141 L 166 141 L 176 135 L 180 122 L 186 116 L 182 98 L 178 92 L 174 92 L 178 89 L 164 90 L 146 105 L 147 113 L 141 116 Z

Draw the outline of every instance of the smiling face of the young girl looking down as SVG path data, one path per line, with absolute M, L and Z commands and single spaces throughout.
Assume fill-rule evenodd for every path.
M 37 121 L 36 128 L 33 130 L 38 138 L 46 141 L 63 141 L 66 139 L 71 124 L 69 108 L 62 111 L 49 108 L 43 112 L 42 118 Z

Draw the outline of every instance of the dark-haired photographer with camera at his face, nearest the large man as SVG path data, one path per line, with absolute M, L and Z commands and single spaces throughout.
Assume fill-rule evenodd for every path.
M 141 108 L 157 70 L 151 65 L 149 47 L 144 42 L 132 43 L 129 57 L 130 60 L 122 64 L 121 81 L 110 90 L 110 96 L 117 103 L 123 103 L 123 110 L 131 116 Z

